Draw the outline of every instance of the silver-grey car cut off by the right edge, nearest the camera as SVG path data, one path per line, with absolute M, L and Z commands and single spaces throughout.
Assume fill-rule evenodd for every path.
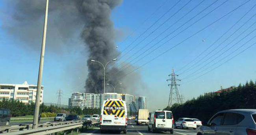
M 213 115 L 197 135 L 256 135 L 256 109 L 233 109 Z

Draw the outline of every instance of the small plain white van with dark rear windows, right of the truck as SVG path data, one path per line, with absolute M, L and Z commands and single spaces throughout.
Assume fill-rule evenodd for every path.
M 148 131 L 170 131 L 173 134 L 174 120 L 171 111 L 153 111 L 148 120 Z

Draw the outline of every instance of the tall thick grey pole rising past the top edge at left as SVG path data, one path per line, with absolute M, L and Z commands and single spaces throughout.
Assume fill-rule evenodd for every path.
M 49 5 L 49 0 L 46 0 L 45 24 L 44 24 L 44 31 L 43 31 L 39 73 L 38 73 L 38 80 L 37 80 L 37 95 L 36 95 L 36 100 L 35 100 L 33 129 L 37 129 L 37 126 L 38 126 L 38 117 L 39 117 L 38 115 L 39 115 L 39 108 L 40 108 L 40 102 L 41 102 L 41 85 L 42 85 L 43 67 L 44 67 L 44 58 L 45 58 L 45 40 L 46 40 L 46 30 L 47 30 L 48 5 Z

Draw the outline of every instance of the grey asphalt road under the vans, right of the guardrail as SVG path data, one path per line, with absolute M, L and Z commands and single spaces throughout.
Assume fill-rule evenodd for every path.
M 120 133 L 108 132 L 106 134 L 116 135 Z M 122 132 L 121 132 L 122 134 Z M 147 126 L 137 126 L 134 120 L 129 120 L 127 135 L 162 135 L 162 134 L 170 134 L 170 132 L 159 131 L 157 133 L 148 132 Z M 173 135 L 196 135 L 197 131 L 194 129 L 174 129 Z M 100 135 L 100 128 L 93 128 L 83 131 L 81 135 Z

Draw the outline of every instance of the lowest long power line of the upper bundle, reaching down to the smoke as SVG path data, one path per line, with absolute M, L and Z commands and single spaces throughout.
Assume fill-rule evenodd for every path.
M 166 52 L 168 52 L 169 50 L 172 50 L 174 47 L 176 47 L 176 46 L 178 46 L 178 45 L 182 44 L 182 43 L 183 43 L 184 41 L 186 41 L 187 39 L 190 39 L 191 37 L 193 37 L 193 36 L 194 36 L 194 35 L 196 35 L 197 33 L 199 33 L 199 32 L 201 32 L 201 31 L 203 31 L 204 29 L 206 29 L 206 28 L 208 28 L 209 26 L 211 26 L 212 24 L 214 24 L 215 22 L 217 22 L 217 21 L 221 20 L 222 18 L 226 17 L 226 16 L 227 16 L 227 15 L 229 15 L 230 13 L 232 13 L 232 12 L 236 11 L 239 7 L 241 7 L 241 6 L 245 5 L 245 4 L 246 4 L 246 3 L 248 3 L 249 1 L 250 1 L 250 0 L 247 0 L 245 3 L 243 3 L 243 4 L 241 4 L 240 6 L 236 7 L 236 8 L 235 8 L 235 9 L 233 9 L 232 11 L 230 11 L 230 12 L 226 13 L 226 14 L 225 14 L 225 15 L 223 15 L 221 18 L 218 18 L 217 20 L 215 20 L 214 22 L 212 22 L 212 23 L 211 23 L 211 24 L 209 24 L 208 26 L 206 26 L 206 27 L 202 28 L 201 30 L 197 31 L 197 32 L 196 32 L 196 33 L 194 33 L 193 35 L 191 35 L 191 36 L 187 37 L 186 39 L 184 39 L 184 40 L 183 40 L 183 41 L 181 41 L 180 43 L 178 43 L 178 44 L 174 45 L 173 47 L 169 48 L 168 50 L 165 50 L 163 53 L 161 53 L 161 54 L 157 55 L 156 57 L 154 57 L 153 59 L 151 59 L 151 60 L 150 60 L 150 61 L 148 61 L 147 63 L 144 63 L 143 65 L 141 65 L 141 66 L 139 66 L 139 67 L 135 68 L 135 69 L 134 69 L 134 70 L 132 70 L 131 72 L 128 72 L 128 74 L 130 74 L 130 73 L 132 73 L 132 72 L 134 72 L 134 71 L 138 70 L 139 68 L 141 68 L 141 67 L 143 67 L 143 66 L 147 65 L 148 63 L 150 63 L 150 62 L 151 62 L 151 61 L 153 61 L 154 59 L 156 59 L 156 58 L 160 57 L 161 55 L 165 54 L 165 53 L 166 53 Z M 128 74 L 125 74 L 124 76 L 127 76 Z

